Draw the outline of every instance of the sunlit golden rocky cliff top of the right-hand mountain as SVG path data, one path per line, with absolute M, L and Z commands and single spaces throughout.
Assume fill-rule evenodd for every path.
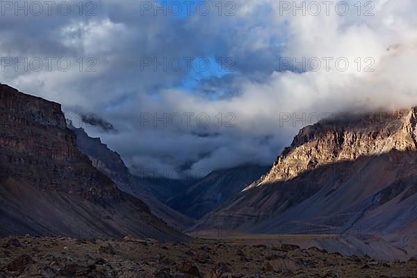
M 300 130 L 278 156 L 270 172 L 245 188 L 286 181 L 320 165 L 379 156 L 390 151 L 416 151 L 417 108 L 395 112 L 344 115 Z

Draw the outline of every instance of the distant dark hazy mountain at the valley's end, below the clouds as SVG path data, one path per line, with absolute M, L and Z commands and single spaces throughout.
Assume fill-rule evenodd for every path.
M 195 219 L 202 218 L 266 172 L 268 167 L 261 165 L 216 170 L 193 183 L 187 190 L 168 199 L 166 204 Z

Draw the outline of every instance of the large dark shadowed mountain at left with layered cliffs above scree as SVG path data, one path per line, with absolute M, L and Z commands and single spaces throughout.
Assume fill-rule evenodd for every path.
M 79 152 L 60 104 L 0 85 L 0 234 L 186 236 Z

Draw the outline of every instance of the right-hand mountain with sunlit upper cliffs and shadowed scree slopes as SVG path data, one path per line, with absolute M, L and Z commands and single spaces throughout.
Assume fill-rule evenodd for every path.
M 417 254 L 416 125 L 412 108 L 306 126 L 193 230 L 374 235 Z

